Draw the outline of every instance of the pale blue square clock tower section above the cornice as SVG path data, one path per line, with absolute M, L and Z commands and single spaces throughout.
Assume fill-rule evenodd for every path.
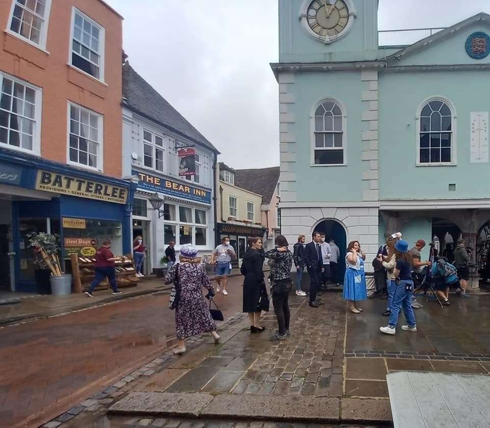
M 280 0 L 279 61 L 375 59 L 378 0 Z

